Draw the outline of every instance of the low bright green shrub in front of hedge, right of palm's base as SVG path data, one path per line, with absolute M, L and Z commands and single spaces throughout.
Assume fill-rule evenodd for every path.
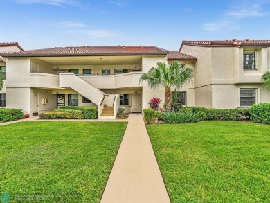
M 166 123 L 196 123 L 202 120 L 201 113 L 165 112 L 163 120 Z

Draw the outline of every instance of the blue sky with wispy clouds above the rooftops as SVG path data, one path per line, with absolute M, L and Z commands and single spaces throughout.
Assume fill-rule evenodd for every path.
M 0 42 L 24 49 L 270 39 L 270 0 L 0 0 Z

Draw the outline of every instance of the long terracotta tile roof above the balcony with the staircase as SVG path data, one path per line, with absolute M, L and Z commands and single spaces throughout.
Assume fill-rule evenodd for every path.
M 156 46 L 72 46 L 44 48 L 2 54 L 4 56 L 69 56 L 69 55 L 165 55 Z

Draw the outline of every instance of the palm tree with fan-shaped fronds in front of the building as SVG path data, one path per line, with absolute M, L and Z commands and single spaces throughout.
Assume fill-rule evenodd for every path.
M 187 85 L 194 76 L 193 69 L 179 62 L 173 62 L 170 66 L 164 62 L 158 62 L 157 67 L 152 67 L 148 73 L 143 73 L 140 82 L 146 80 L 148 86 L 157 88 L 165 87 L 165 110 L 171 109 L 171 88 L 180 88 Z

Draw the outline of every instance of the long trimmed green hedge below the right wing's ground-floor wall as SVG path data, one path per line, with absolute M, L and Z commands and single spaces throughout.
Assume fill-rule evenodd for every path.
M 204 120 L 219 120 L 219 121 L 242 121 L 249 120 L 250 109 L 208 109 L 205 107 L 183 107 L 179 112 L 204 112 L 206 117 Z

